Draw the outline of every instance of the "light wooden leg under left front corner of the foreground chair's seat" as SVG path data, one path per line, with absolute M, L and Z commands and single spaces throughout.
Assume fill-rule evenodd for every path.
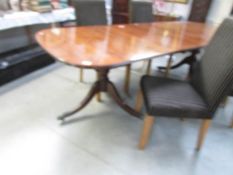
M 140 141 L 138 145 L 139 149 L 144 149 L 145 146 L 148 144 L 154 121 L 155 121 L 155 118 L 153 116 L 148 115 L 145 117 L 143 129 L 142 129 L 142 133 L 141 133 L 141 137 L 140 137 Z

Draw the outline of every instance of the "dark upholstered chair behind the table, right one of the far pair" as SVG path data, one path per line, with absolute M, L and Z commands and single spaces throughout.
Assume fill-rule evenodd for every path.
M 130 1 L 129 4 L 130 23 L 146 23 L 154 22 L 153 5 L 152 2 L 145 1 Z M 147 74 L 150 73 L 151 60 L 148 62 Z M 127 66 L 125 79 L 125 92 L 129 94 L 131 65 Z

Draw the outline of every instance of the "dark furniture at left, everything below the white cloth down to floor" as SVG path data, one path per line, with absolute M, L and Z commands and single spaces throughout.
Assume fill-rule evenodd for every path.
M 33 25 L 0 31 L 0 85 L 54 62 L 32 37 L 35 31 L 47 27 Z

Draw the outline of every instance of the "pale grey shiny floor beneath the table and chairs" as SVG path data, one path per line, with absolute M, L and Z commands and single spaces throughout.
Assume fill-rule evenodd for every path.
M 165 59 L 154 61 L 154 70 Z M 130 105 L 141 76 L 132 71 L 131 96 L 122 89 L 124 68 L 110 78 Z M 187 68 L 175 70 L 184 78 Z M 154 74 L 156 74 L 154 72 Z M 85 83 L 76 68 L 55 64 L 0 87 L 0 174 L 2 175 L 232 175 L 233 100 L 221 107 L 203 149 L 194 150 L 200 121 L 157 117 L 152 139 L 137 149 L 142 120 L 116 107 L 103 96 L 61 124 L 56 117 L 85 96 L 95 73 L 85 70 Z

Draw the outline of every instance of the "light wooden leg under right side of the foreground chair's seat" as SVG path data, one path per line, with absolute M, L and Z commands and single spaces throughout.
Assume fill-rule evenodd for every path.
M 199 136 L 198 136 L 198 141 L 197 141 L 197 147 L 196 150 L 199 151 L 203 145 L 204 139 L 205 139 L 205 135 L 207 133 L 207 130 L 209 128 L 211 120 L 210 119 L 206 119 L 202 121 L 200 130 L 199 130 Z

